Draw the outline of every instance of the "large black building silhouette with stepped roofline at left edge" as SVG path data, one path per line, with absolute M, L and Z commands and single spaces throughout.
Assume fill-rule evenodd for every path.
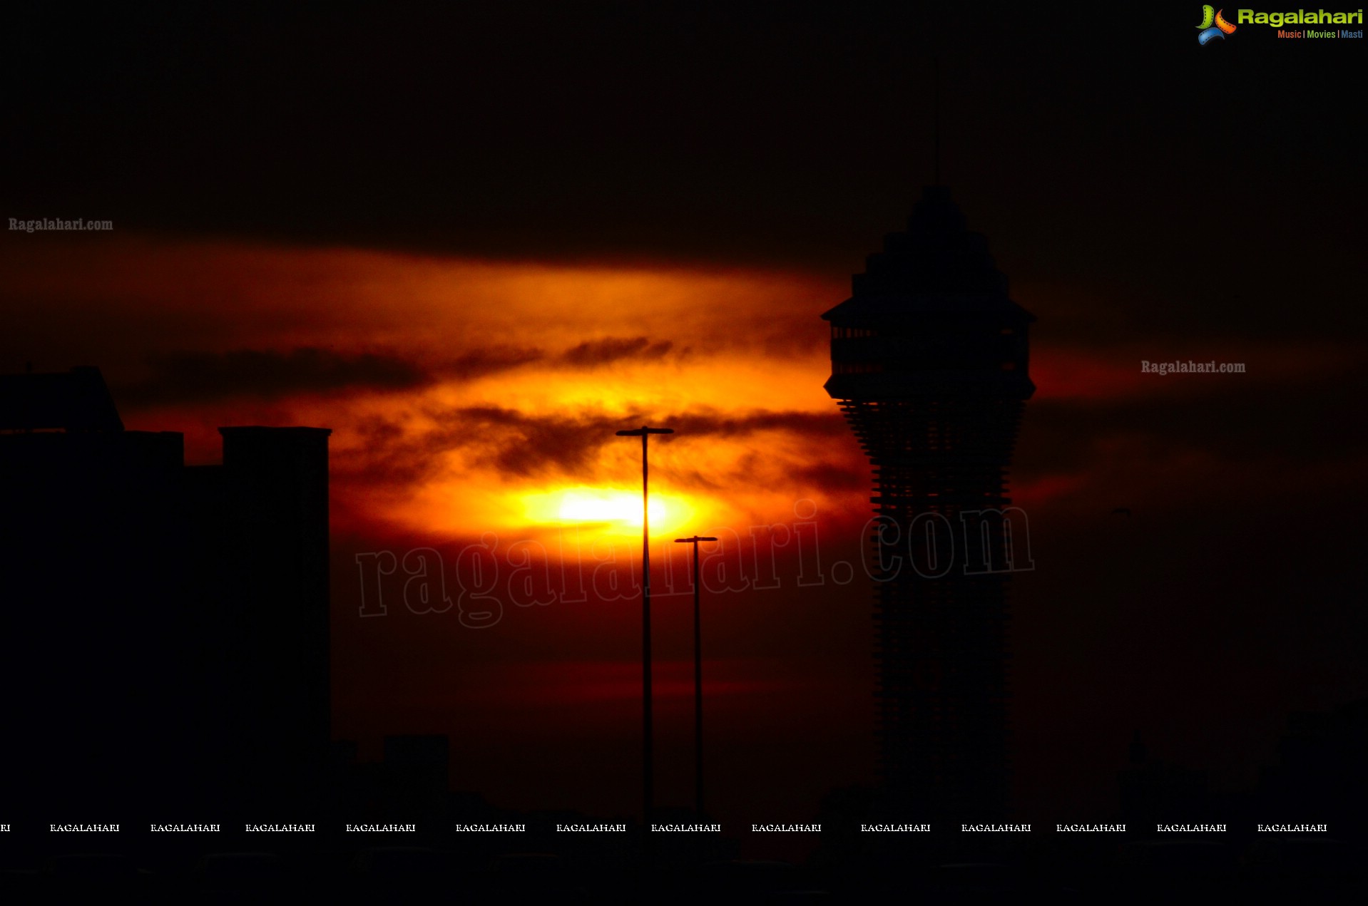
M 124 430 L 98 369 L 0 376 L 0 801 L 297 817 L 323 780 L 328 429 Z

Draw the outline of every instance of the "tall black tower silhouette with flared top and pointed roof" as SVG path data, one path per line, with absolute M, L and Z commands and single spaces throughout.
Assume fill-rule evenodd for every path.
M 943 186 L 854 276 L 832 324 L 836 399 L 874 471 L 878 749 L 885 808 L 1003 817 L 1007 579 L 1030 568 L 1007 469 L 1027 325 L 982 235 Z

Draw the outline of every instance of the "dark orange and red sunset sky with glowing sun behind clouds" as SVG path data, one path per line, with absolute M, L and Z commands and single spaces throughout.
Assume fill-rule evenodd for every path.
M 449 732 L 453 784 L 517 808 L 636 808 L 640 447 L 614 430 L 674 428 L 651 441 L 655 581 L 680 592 L 659 798 L 691 798 L 665 556 L 717 534 L 713 802 L 808 817 L 873 776 L 870 477 L 819 314 L 933 180 L 938 55 L 944 182 L 1038 318 L 1018 806 L 1100 813 L 1137 730 L 1249 782 L 1289 712 L 1368 694 L 1364 49 L 1198 46 L 1197 5 L 1052 16 L 7 12 L 0 216 L 114 230 L 3 232 L 0 370 L 98 365 L 192 463 L 220 425 L 332 428 L 334 732 L 365 757 Z M 1187 359 L 1245 373 L 1141 373 Z M 469 600 L 416 612 L 419 562 L 367 556 L 415 549 Z M 476 599 L 488 626 L 462 624 Z

